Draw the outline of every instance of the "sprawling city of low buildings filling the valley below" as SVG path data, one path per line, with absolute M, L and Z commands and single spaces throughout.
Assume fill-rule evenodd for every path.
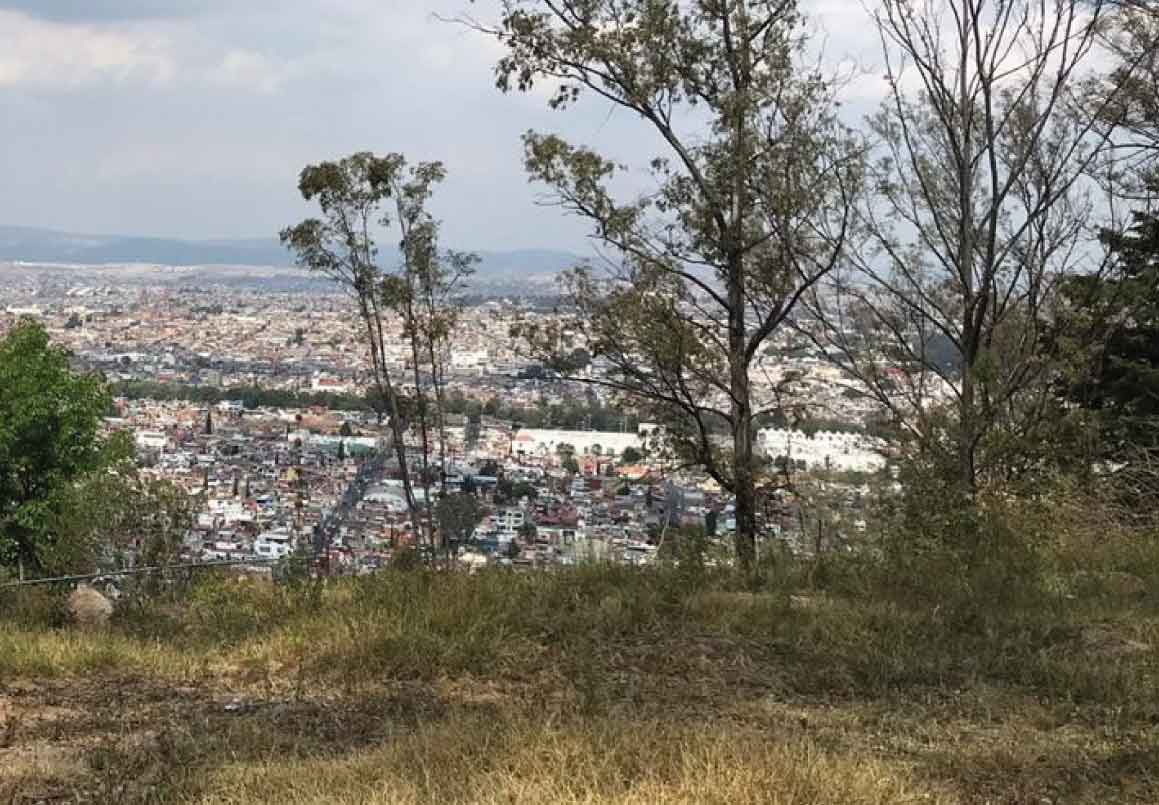
M 388 429 L 365 405 L 342 408 L 362 400 L 371 380 L 341 293 L 316 283 L 270 291 L 245 276 L 241 288 L 236 277 L 233 285 L 174 283 L 161 266 L 0 270 L 17 280 L 0 291 L 0 336 L 32 319 L 78 368 L 124 391 L 108 427 L 131 433 L 145 471 L 194 502 L 184 561 L 269 563 L 300 554 L 327 572 L 366 573 L 418 547 L 387 455 Z M 231 278 L 226 268 L 206 271 Z M 534 371 L 510 332 L 517 321 L 549 319 L 541 308 L 526 298 L 480 301 L 464 310 L 450 344 L 449 461 L 436 485 L 457 492 L 474 484 L 486 513 L 469 542 L 455 547 L 457 559 L 642 564 L 668 528 L 710 525 L 713 536 L 730 535 L 729 495 L 702 471 L 665 461 L 656 423 L 596 386 Z M 401 335 L 401 322 L 388 327 Z M 401 337 L 386 353 L 402 376 L 408 353 Z M 796 395 L 816 415 L 807 430 L 763 427 L 757 444 L 768 460 L 792 461 L 802 482 L 823 483 L 847 502 L 844 524 L 826 537 L 837 544 L 865 528 L 867 480 L 887 468 L 884 442 L 866 429 L 875 409 L 841 393 L 840 372 L 804 337 L 786 335 L 770 354 L 770 387 L 794 373 Z M 592 379 L 605 371 L 599 360 L 586 368 Z M 246 394 L 231 398 L 231 390 Z M 286 402 L 271 404 L 276 393 Z M 421 451 L 417 433 L 408 438 L 408 449 Z M 764 515 L 770 547 L 814 549 L 811 536 L 802 539 L 812 515 L 790 489 Z

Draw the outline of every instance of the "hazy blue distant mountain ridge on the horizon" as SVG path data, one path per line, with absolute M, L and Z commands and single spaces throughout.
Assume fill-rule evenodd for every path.
M 554 275 L 582 258 L 566 251 L 522 249 L 480 251 L 479 279 Z M 276 239 L 187 241 L 169 237 L 79 235 L 52 229 L 0 226 L 0 261 L 29 263 L 152 263 L 158 265 L 290 266 Z

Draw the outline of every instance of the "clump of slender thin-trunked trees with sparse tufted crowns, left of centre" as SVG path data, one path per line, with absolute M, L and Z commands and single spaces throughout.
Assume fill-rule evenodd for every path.
M 316 199 L 321 219 L 308 219 L 282 233 L 298 262 L 350 292 L 358 307 L 370 349 L 374 389 L 391 414 L 391 433 L 403 491 L 416 533 L 431 541 L 435 508 L 431 481 L 431 429 L 439 445 L 439 475 L 446 476 L 445 375 L 450 336 L 460 312 L 459 294 L 478 258 L 440 251 L 439 222 L 427 208 L 435 185 L 446 176 L 439 162 L 408 166 L 401 154 L 358 153 L 338 162 L 302 170 L 299 190 Z M 384 266 L 376 233 L 396 229 L 399 257 Z M 392 378 L 386 354 L 388 315 L 402 323 L 415 386 L 413 405 L 401 404 L 399 380 Z M 431 378 L 432 409 L 424 373 Z M 422 458 L 422 506 L 416 498 L 406 448 L 406 414 L 417 415 Z M 421 513 L 422 510 L 422 513 Z

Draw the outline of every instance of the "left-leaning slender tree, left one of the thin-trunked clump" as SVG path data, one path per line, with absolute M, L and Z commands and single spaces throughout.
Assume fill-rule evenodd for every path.
M 410 521 L 416 534 L 427 533 L 429 537 L 420 526 L 422 518 L 410 482 L 400 400 L 386 364 L 387 275 L 378 264 L 378 246 L 371 234 L 379 225 L 389 226 L 389 215 L 382 206 L 395 192 L 403 164 L 398 154 L 379 158 L 358 153 L 337 162 L 307 166 L 298 189 L 307 202 L 318 202 L 322 218 L 309 218 L 283 229 L 280 237 L 299 265 L 334 280 L 353 298 L 365 329 L 376 397 L 385 401 L 389 412 L 391 440 Z M 428 505 L 429 500 L 428 496 Z

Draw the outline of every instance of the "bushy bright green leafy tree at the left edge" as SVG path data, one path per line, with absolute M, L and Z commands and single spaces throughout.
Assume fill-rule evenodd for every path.
M 103 380 L 73 372 L 39 324 L 23 321 L 0 341 L 0 565 L 68 565 L 53 526 L 73 488 L 131 454 L 126 439 L 102 434 L 111 404 Z

